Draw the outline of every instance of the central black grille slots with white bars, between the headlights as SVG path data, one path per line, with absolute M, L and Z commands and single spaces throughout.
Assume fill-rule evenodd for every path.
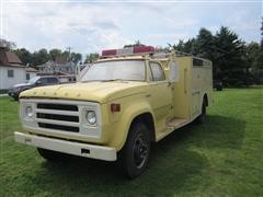
M 80 131 L 78 105 L 37 103 L 36 121 L 41 128 L 72 132 Z

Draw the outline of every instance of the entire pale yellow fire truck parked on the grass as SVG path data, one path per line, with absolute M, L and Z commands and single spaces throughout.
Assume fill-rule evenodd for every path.
M 151 142 L 205 120 L 211 91 L 209 60 L 151 46 L 103 50 L 79 82 L 22 92 L 24 130 L 14 138 L 46 160 L 64 153 L 119 160 L 134 178 L 147 166 Z

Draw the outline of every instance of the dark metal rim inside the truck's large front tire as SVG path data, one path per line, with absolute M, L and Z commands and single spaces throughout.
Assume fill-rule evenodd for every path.
M 135 139 L 133 152 L 134 164 L 138 169 L 142 167 L 149 154 L 149 143 L 141 134 Z

